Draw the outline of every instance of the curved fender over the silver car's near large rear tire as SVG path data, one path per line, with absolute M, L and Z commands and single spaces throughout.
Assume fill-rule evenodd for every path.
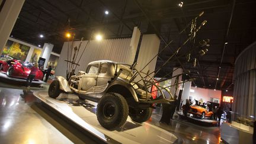
M 110 89 L 111 87 L 114 87 L 114 86 L 116 86 L 116 85 L 121 85 L 121 86 L 125 87 L 126 89 L 128 89 L 128 91 L 130 92 L 130 94 L 132 94 L 134 100 L 135 100 L 136 102 L 139 102 L 139 99 L 137 98 L 137 94 L 136 94 L 135 89 L 134 89 L 134 88 L 132 87 L 132 85 L 131 85 L 128 81 L 126 81 L 126 80 L 117 78 L 116 81 L 111 82 L 111 83 L 108 85 L 106 91 L 108 91 L 108 89 Z

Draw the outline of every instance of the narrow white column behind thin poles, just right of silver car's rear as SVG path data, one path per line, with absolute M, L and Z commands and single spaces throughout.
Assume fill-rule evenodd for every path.
M 178 69 L 177 69 L 177 68 L 174 68 L 174 69 L 173 69 L 173 72 L 172 72 L 172 76 L 180 75 L 181 73 L 183 73 L 183 69 L 181 69 L 181 68 L 178 68 Z M 182 78 L 182 76 L 180 75 L 179 78 L 178 78 L 178 83 L 181 82 L 181 78 Z M 174 78 L 171 79 L 171 85 L 174 85 L 174 84 L 175 84 L 175 80 L 176 80 L 176 77 L 174 77 Z M 176 91 L 175 91 L 175 86 L 174 86 L 174 87 L 171 87 L 171 88 L 170 88 L 170 92 L 171 92 L 171 94 L 172 94 L 173 96 L 174 96 L 175 94 L 178 95 L 179 92 L 180 92 L 180 84 L 178 85 L 178 88 L 176 89 Z

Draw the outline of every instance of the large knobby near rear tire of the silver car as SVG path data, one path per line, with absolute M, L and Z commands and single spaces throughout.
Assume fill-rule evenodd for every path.
M 97 119 L 101 126 L 115 130 L 126 122 L 129 107 L 124 97 L 117 93 L 104 94 L 97 105 Z

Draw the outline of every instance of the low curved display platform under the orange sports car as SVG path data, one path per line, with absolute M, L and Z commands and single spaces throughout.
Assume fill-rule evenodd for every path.
M 200 126 L 216 126 L 220 122 L 217 120 L 206 120 L 206 119 L 197 119 L 194 117 L 185 117 L 182 111 L 177 112 L 178 116 L 181 117 L 182 119 L 187 119 L 191 123 L 198 124 Z

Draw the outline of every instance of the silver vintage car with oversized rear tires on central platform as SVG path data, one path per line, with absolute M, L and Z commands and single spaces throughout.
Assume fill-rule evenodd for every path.
M 136 76 L 142 78 L 142 84 L 135 82 Z M 89 63 L 85 72 L 79 71 L 69 81 L 56 76 L 48 93 L 57 98 L 61 92 L 71 92 L 80 99 L 97 102 L 99 123 L 105 129 L 113 130 L 123 126 L 128 115 L 137 123 L 147 121 L 154 108 L 152 104 L 172 101 L 165 97 L 153 99 L 148 91 L 149 83 L 133 65 L 99 60 Z

